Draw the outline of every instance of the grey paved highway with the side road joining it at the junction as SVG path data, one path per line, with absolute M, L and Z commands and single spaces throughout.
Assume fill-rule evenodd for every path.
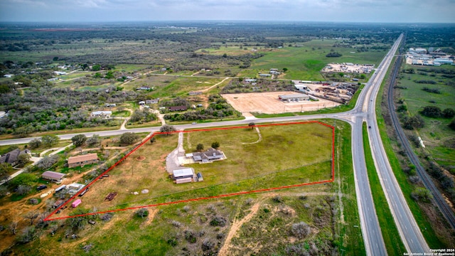
M 380 140 L 378 124 L 375 116 L 375 100 L 378 95 L 378 90 L 382 79 L 385 77 L 387 68 L 389 67 L 393 54 L 395 54 L 402 36 L 397 39 L 394 46 L 382 60 L 378 69 L 370 78 L 368 84 L 360 92 L 358 102 L 353 110 L 337 114 L 314 114 L 308 116 L 294 116 L 294 117 L 273 117 L 264 119 L 244 119 L 236 121 L 213 122 L 203 124 L 183 124 L 176 125 L 176 129 L 188 128 L 205 128 L 205 127 L 219 127 L 227 125 L 245 125 L 250 122 L 263 123 L 263 122 L 286 122 L 286 121 L 299 121 L 305 119 L 341 119 L 349 122 L 353 127 L 352 132 L 352 151 L 353 151 L 353 165 L 355 175 L 355 191 L 357 193 L 358 210 L 360 215 L 360 225 L 362 228 L 363 239 L 365 241 L 365 250 L 367 255 L 387 255 L 385 250 L 384 240 L 378 223 L 378 217 L 375 213 L 373 204 L 373 196 L 371 195 L 370 185 L 365 166 L 365 154 L 363 152 L 363 136 L 362 124 L 364 121 L 371 126 L 369 129 L 368 137 L 373 151 L 375 166 L 380 176 L 382 189 L 385 191 L 387 202 L 392 211 L 393 218 L 400 232 L 400 236 L 405 244 L 407 252 L 429 252 L 427 242 L 424 240 L 414 216 L 410 212 L 410 208 L 402 195 L 400 186 L 392 173 L 392 169 L 387 160 L 382 141 Z M 127 130 L 114 130 L 114 131 L 100 131 L 85 133 L 87 137 L 93 134 L 100 136 L 112 136 L 123 134 L 124 132 L 157 132 L 159 127 L 147 127 Z M 59 135 L 60 139 L 70 139 L 76 134 Z M 0 141 L 0 145 L 6 144 L 25 144 L 33 138 L 23 139 L 8 139 Z

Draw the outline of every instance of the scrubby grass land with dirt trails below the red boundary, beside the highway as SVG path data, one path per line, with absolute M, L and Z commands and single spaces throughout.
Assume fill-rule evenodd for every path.
M 146 218 L 137 217 L 134 210 L 114 213 L 108 221 L 100 220 L 100 215 L 92 216 L 97 223 L 89 225 L 87 219 L 82 219 L 86 224 L 77 239 L 65 238 L 73 219 L 50 221 L 50 227 L 58 227 L 54 235 L 40 230 L 38 240 L 16 245 L 12 250 L 17 255 L 161 256 L 202 255 L 209 251 L 215 255 L 289 255 L 291 248 L 309 251 L 310 245 L 316 245 L 316 255 L 332 254 L 332 250 L 343 255 L 365 255 L 360 228 L 356 228 L 360 223 L 350 160 L 350 128 L 339 121 L 336 127 L 334 183 L 147 208 Z M 250 129 L 245 132 L 255 134 Z M 175 142 L 175 137 L 168 138 Z M 257 134 L 247 138 L 255 142 Z M 154 146 L 164 146 L 162 141 L 160 138 Z M 176 142 L 168 150 L 174 146 Z M 82 200 L 87 201 L 85 196 Z M 224 218 L 225 224 L 212 225 L 216 216 Z M 291 225 L 301 221 L 311 227 L 306 238 L 297 238 L 291 232 Z M 213 247 L 202 247 L 203 242 Z M 85 245 L 92 245 L 87 253 L 82 250 Z

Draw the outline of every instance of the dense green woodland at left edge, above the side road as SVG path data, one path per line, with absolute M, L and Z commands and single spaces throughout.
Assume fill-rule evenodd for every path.
M 13 133 L 26 136 L 33 132 L 96 127 L 100 124 L 117 125 L 117 120 L 91 118 L 83 105 L 99 105 L 103 102 L 136 100 L 136 92 L 119 90 L 77 91 L 52 86 L 31 87 L 29 90 L 8 92 L 0 97 L 0 105 L 8 116 L 0 119 L 0 134 Z M 155 118 L 146 114 L 146 119 Z

